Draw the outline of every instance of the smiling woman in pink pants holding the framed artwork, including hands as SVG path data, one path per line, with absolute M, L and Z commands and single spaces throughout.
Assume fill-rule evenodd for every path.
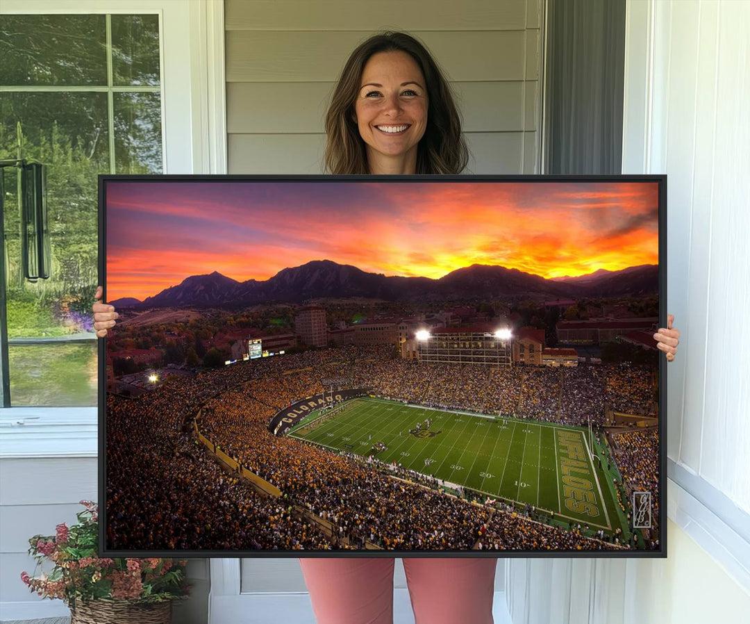
M 375 35 L 350 56 L 326 116 L 330 173 L 460 173 L 468 150 L 448 82 L 419 41 L 404 33 Z M 97 291 L 101 298 L 101 288 Z M 118 318 L 95 303 L 104 336 Z M 672 360 L 679 332 L 654 338 Z M 300 559 L 321 624 L 392 622 L 395 559 Z M 417 624 L 492 622 L 496 559 L 404 559 Z

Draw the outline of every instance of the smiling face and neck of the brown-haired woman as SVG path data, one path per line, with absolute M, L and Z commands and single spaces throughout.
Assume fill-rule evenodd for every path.
M 413 162 L 417 144 L 427 128 L 428 97 L 425 77 L 405 52 L 380 52 L 370 57 L 354 110 L 368 164 Z

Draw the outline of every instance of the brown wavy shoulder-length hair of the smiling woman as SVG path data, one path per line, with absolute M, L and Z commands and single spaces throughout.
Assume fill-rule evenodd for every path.
M 370 57 L 379 52 L 405 52 L 419 65 L 428 92 L 425 135 L 417 146 L 416 173 L 460 173 L 469 161 L 461 119 L 443 71 L 427 48 L 405 32 L 383 32 L 360 44 L 347 60 L 326 113 L 326 170 L 364 174 L 368 171 L 365 141 L 354 121 L 359 81 Z

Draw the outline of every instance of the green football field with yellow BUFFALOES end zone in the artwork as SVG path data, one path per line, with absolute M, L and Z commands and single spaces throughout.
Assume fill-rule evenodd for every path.
M 431 421 L 426 431 L 425 418 Z M 529 503 L 595 529 L 627 530 L 581 427 L 365 398 L 350 401 L 320 424 L 296 427 L 290 436 L 363 457 L 374 454 L 491 499 Z M 374 452 L 377 442 L 385 443 L 386 451 Z

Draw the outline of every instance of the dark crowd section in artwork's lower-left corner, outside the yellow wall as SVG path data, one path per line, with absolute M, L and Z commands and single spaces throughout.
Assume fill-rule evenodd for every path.
M 184 388 L 178 394 L 184 395 Z M 195 389 L 199 391 L 198 388 Z M 326 548 L 325 536 L 224 472 L 169 426 L 177 393 L 107 402 L 107 538 L 114 549 Z M 190 405 L 189 403 L 187 405 Z M 184 406 L 187 406 L 184 405 Z

